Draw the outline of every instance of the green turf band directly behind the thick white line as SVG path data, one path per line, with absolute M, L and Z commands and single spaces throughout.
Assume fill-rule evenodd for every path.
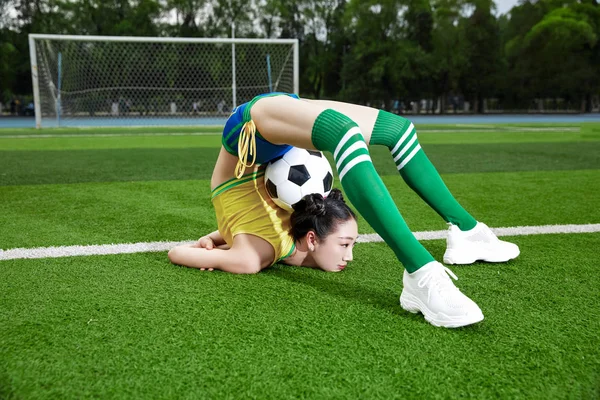
M 600 223 L 600 185 L 589 184 L 600 181 L 596 170 L 448 174 L 444 180 L 490 226 Z M 445 228 L 399 175 L 384 182 L 413 230 Z M 216 228 L 208 186 L 207 180 L 182 180 L 0 188 L 2 245 L 192 240 Z M 541 198 L 552 201 L 540 204 Z M 373 232 L 362 218 L 359 231 Z

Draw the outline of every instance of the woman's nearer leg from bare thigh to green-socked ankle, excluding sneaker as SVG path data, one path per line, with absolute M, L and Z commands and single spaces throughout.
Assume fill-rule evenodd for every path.
M 331 152 L 350 202 L 393 249 L 408 272 L 434 261 L 406 225 L 377 175 L 360 128 L 327 106 L 286 96 L 268 97 L 256 102 L 251 115 L 258 131 L 272 143 Z M 364 107 L 362 111 L 353 117 L 368 121 L 376 110 Z

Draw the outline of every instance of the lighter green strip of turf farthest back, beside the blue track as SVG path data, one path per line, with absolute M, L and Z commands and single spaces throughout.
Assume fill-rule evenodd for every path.
M 474 125 L 475 127 L 477 125 Z M 465 144 L 465 143 L 564 143 L 589 142 L 600 140 L 600 129 L 594 126 L 568 126 L 568 131 L 560 127 L 519 127 L 465 129 L 464 125 L 452 127 L 432 125 L 419 127 L 419 141 L 422 144 Z M 98 131 L 89 129 L 0 130 L 1 150 L 83 150 L 83 149 L 125 149 L 125 148 L 189 148 L 219 147 L 219 131 L 211 127 L 181 128 L 104 128 Z M 50 135 L 50 137 L 31 137 Z M 124 136 L 119 136 L 124 135 Z M 13 138 L 13 136 L 19 136 Z

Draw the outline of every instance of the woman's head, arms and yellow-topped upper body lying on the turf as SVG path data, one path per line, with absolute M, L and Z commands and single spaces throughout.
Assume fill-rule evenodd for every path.
M 271 200 L 262 175 L 219 192 L 222 186 L 213 190 L 219 230 L 169 251 L 173 263 L 253 274 L 278 262 L 339 272 L 352 261 L 358 227 L 339 189 L 325 199 L 305 196 L 290 213 Z

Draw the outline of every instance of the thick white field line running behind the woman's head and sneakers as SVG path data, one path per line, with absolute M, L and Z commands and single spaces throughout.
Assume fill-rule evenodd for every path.
M 542 235 L 553 233 L 592 233 L 600 232 L 600 224 L 587 225 L 543 225 L 543 226 L 515 226 L 509 228 L 492 228 L 498 236 Z M 418 240 L 445 239 L 446 230 L 414 232 Z M 377 234 L 360 235 L 358 243 L 383 242 Z M 123 244 L 99 244 L 88 246 L 59 246 L 38 247 L 33 249 L 17 248 L 0 250 L 0 260 L 15 260 L 22 258 L 57 258 L 72 256 L 92 256 L 107 254 L 130 254 L 167 251 L 175 246 L 193 243 L 183 242 L 146 242 Z

